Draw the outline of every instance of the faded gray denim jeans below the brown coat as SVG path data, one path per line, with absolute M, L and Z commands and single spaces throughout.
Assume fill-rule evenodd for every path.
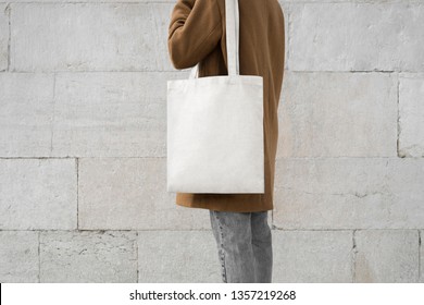
M 210 210 L 224 283 L 271 283 L 273 252 L 267 211 Z

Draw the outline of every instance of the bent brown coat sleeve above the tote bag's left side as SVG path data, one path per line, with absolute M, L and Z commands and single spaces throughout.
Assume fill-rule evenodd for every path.
M 171 15 L 167 48 L 175 69 L 187 69 L 205 58 L 222 36 L 216 0 L 178 0 Z

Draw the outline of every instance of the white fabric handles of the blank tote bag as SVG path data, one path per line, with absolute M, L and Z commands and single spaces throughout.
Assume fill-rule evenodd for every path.
M 225 0 L 225 30 L 227 42 L 228 75 L 239 75 L 239 12 L 238 0 Z M 190 72 L 189 78 L 199 73 L 199 63 Z

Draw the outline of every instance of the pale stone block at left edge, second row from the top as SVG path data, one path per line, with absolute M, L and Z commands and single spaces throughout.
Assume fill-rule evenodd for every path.
M 0 73 L 1 157 L 50 156 L 53 82 L 51 74 Z

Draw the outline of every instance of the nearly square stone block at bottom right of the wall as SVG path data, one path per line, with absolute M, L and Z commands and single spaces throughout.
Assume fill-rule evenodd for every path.
M 416 282 L 416 230 L 358 230 L 354 232 L 356 282 Z

